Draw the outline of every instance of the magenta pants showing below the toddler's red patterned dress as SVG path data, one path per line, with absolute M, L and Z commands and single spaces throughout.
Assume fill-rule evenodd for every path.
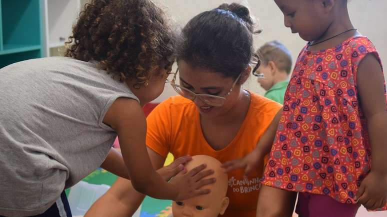
M 357 204 L 342 204 L 325 195 L 298 193 L 295 212 L 299 217 L 355 217 Z

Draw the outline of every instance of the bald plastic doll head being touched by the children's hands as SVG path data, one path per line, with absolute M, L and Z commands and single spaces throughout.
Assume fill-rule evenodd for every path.
M 220 167 L 221 163 L 206 155 L 196 155 L 185 167 L 187 171 L 206 164 L 206 169 L 212 169 L 214 173 L 204 179 L 216 178 L 214 184 L 204 186 L 211 192 L 208 195 L 201 195 L 185 201 L 174 201 L 172 205 L 173 217 L 217 217 L 223 215 L 228 207 L 229 199 L 227 193 L 227 174 Z

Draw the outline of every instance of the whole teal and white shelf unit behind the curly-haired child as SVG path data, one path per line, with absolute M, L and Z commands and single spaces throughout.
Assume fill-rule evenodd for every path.
M 62 55 L 79 11 L 89 0 L 0 0 L 0 68 Z

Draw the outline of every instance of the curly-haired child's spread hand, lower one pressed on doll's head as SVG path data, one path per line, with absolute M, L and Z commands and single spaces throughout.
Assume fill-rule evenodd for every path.
M 173 201 L 184 201 L 189 198 L 193 198 L 199 195 L 206 195 L 210 193 L 209 189 L 201 189 L 201 187 L 215 183 L 216 179 L 203 179 L 206 176 L 212 175 L 213 170 L 205 170 L 205 164 L 197 166 L 190 170 L 186 171 L 184 168 L 180 173 L 178 173 L 173 179 L 170 180 L 170 183 L 174 185 L 177 190 L 177 195 Z

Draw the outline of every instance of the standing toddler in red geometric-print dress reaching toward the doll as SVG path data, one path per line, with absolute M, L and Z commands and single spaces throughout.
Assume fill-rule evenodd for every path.
M 354 217 L 386 210 L 387 111 L 379 55 L 355 29 L 346 0 L 274 0 L 292 33 L 309 41 L 283 108 L 245 158 L 248 175 L 270 152 L 257 217 Z

